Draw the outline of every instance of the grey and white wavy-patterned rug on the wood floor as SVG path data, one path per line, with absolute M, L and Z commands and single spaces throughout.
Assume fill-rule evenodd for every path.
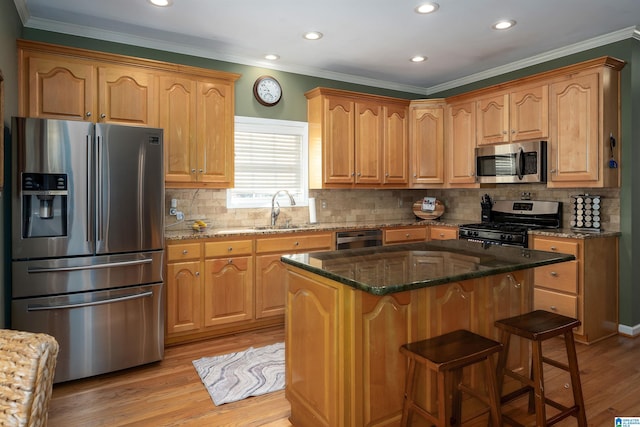
M 194 360 L 216 406 L 284 388 L 284 343 Z

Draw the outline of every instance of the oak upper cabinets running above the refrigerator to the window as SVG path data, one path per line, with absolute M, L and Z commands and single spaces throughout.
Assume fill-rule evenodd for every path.
M 18 56 L 21 115 L 162 128 L 167 187 L 233 187 L 239 74 L 24 40 Z

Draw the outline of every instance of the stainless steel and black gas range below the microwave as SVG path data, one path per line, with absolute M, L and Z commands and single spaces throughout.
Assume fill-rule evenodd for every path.
M 529 230 L 560 227 L 562 203 L 540 200 L 499 200 L 493 203 L 485 196 L 482 218 L 483 222 L 461 225 L 459 238 L 527 247 Z

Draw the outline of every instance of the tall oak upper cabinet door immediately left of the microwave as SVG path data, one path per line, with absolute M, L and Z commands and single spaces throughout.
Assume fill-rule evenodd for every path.
M 476 182 L 476 107 L 475 102 L 450 105 L 447 133 L 447 182 L 449 186 L 460 184 L 469 187 Z

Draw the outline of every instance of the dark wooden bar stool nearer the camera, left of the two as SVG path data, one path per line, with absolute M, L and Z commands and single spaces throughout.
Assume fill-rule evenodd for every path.
M 465 392 L 484 402 L 490 409 L 494 427 L 501 426 L 500 396 L 495 371 L 489 359 L 490 355 L 500 352 L 501 349 L 502 344 L 499 342 L 467 330 L 450 332 L 400 347 L 400 352 L 409 359 L 400 425 L 408 425 L 413 411 L 435 423 L 437 427 L 461 425 L 462 392 Z M 462 383 L 462 369 L 480 362 L 485 365 L 486 395 Z M 421 363 L 427 369 L 436 372 L 437 414 L 432 414 L 415 403 L 416 363 Z M 447 404 L 449 393 L 452 396 L 450 405 Z

